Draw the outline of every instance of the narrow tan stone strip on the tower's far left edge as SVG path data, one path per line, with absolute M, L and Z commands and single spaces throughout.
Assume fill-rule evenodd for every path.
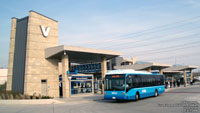
M 6 85 L 7 91 L 12 90 L 12 76 L 13 76 L 16 25 L 17 25 L 17 18 L 12 18 L 11 34 L 10 34 L 9 60 L 8 60 L 8 79 L 7 79 L 7 85 Z

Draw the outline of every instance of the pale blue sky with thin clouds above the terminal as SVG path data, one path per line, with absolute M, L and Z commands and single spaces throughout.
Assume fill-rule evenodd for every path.
M 59 44 L 200 66 L 200 0 L 1 0 L 0 67 L 8 65 L 11 17 L 30 10 L 59 21 Z

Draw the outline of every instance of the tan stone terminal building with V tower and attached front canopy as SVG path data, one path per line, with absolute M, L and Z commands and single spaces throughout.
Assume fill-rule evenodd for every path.
M 12 18 L 7 90 L 27 95 L 70 97 L 77 92 L 94 92 L 93 73 L 72 76 L 72 64 L 100 63 L 100 77 L 106 61 L 119 52 L 58 45 L 58 21 L 30 11 L 22 19 Z M 96 72 L 97 73 L 97 72 Z M 73 81 L 73 84 L 71 84 Z

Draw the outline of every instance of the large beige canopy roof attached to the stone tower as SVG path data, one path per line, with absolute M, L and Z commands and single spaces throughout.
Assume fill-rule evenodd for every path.
M 120 56 L 119 52 L 60 45 L 47 48 L 45 50 L 45 58 L 61 59 L 64 53 L 68 55 L 69 61 L 72 63 L 101 62 L 103 57 L 108 60 Z

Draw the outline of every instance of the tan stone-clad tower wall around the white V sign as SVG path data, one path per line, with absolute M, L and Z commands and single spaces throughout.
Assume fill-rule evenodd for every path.
M 41 94 L 41 80 L 47 80 L 47 94 L 59 96 L 58 60 L 45 59 L 45 49 L 58 45 L 58 22 L 34 11 L 30 11 L 25 64 L 25 94 Z M 50 27 L 44 37 L 40 25 Z

